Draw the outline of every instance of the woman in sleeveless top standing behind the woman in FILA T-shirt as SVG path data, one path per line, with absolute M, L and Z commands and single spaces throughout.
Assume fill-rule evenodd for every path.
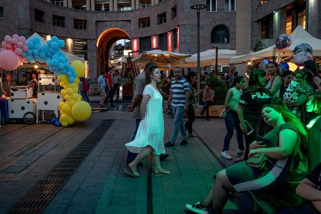
M 265 88 L 270 90 L 272 96 L 280 95 L 280 86 L 282 84 L 282 79 L 278 75 L 279 66 L 276 62 L 270 61 L 267 64 L 266 71 L 270 75 L 269 81 L 266 83 Z

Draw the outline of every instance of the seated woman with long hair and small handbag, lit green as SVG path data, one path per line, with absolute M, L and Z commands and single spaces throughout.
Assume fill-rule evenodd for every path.
M 264 122 L 263 122 L 264 121 Z M 264 141 L 254 141 L 250 145 L 249 157 L 257 153 L 267 155 L 264 169 L 250 167 L 246 161 L 221 170 L 215 183 L 202 202 L 186 208 L 196 213 L 222 213 L 229 191 L 268 191 L 284 189 L 289 181 L 301 181 L 307 173 L 307 137 L 303 125 L 291 112 L 278 105 L 262 108 L 258 130 L 264 124 L 273 130 L 264 136 Z M 262 133 L 259 133 L 262 134 Z

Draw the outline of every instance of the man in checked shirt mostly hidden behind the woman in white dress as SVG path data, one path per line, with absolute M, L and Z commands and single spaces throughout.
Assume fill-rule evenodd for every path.
M 133 86 L 133 99 L 132 103 L 128 105 L 128 111 L 133 112 L 132 117 L 136 120 L 135 124 L 135 131 L 133 133 L 132 139 L 130 141 L 133 141 L 136 137 L 136 133 L 138 130 L 139 123 L 141 121 L 141 115 L 140 115 L 140 106 L 142 104 L 143 99 L 143 90 L 145 85 L 145 70 L 154 63 L 149 62 L 146 64 L 145 69 L 142 73 L 138 74 L 138 76 L 134 80 L 134 86 Z M 127 153 L 127 164 L 133 162 L 133 160 L 136 158 L 137 153 L 133 153 L 128 151 Z M 160 154 L 160 160 L 164 160 L 167 158 L 168 154 Z M 138 166 L 142 166 L 142 163 L 139 163 Z

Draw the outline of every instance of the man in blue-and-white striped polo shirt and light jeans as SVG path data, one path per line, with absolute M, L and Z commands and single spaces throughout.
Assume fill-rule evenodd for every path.
M 178 131 L 180 131 L 183 141 L 180 143 L 181 146 L 187 143 L 187 134 L 184 126 L 183 117 L 185 112 L 188 109 L 188 99 L 189 99 L 189 87 L 188 81 L 182 77 L 182 72 L 179 67 L 174 68 L 174 77 L 175 80 L 172 81 L 170 88 L 170 94 L 166 104 L 166 110 L 168 110 L 169 103 L 172 102 L 173 114 L 175 115 L 174 119 L 174 129 L 170 140 L 165 143 L 166 147 L 174 146 Z

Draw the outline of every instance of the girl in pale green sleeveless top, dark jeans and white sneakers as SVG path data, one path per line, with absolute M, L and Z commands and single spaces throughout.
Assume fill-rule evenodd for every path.
M 234 133 L 234 128 L 236 130 L 236 139 L 238 141 L 238 153 L 243 154 L 244 145 L 243 145 L 243 131 L 240 128 L 240 121 L 238 117 L 238 106 L 239 99 L 241 97 L 241 90 L 245 87 L 245 78 L 243 76 L 236 76 L 233 79 L 234 87 L 229 89 L 226 94 L 224 105 L 228 108 L 225 116 L 225 126 L 226 126 L 226 135 L 224 138 L 224 147 L 221 151 L 221 157 L 231 160 L 232 157 L 229 154 L 230 141 Z

